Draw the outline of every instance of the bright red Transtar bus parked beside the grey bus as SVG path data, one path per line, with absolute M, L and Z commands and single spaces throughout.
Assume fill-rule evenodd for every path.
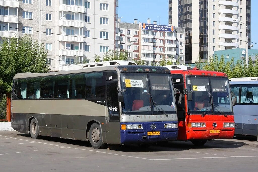
M 178 90 L 178 140 L 204 145 L 209 139 L 233 138 L 236 99 L 227 75 L 205 70 L 171 70 L 171 75 Z

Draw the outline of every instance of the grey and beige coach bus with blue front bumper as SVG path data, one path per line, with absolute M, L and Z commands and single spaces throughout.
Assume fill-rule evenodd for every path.
M 115 63 L 114 63 L 115 64 Z M 13 78 L 13 129 L 106 144 L 148 145 L 178 136 L 175 93 L 164 67 L 109 65 Z

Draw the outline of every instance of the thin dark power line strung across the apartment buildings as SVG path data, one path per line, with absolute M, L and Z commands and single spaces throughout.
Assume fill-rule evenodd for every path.
M 5 26 L 4 26 L 5 27 Z M 21 29 L 21 28 L 14 28 L 14 27 L 6 27 L 6 28 L 12 28 L 12 29 L 19 29 L 19 30 L 27 30 L 27 31 L 32 31 L 28 29 Z M 47 34 L 53 34 L 53 35 L 61 35 L 61 36 L 72 36 L 72 37 L 79 37 L 79 38 L 89 38 L 89 39 L 100 39 L 100 40 L 113 40 L 113 41 L 123 41 L 123 40 L 117 40 L 117 39 L 104 39 L 104 38 L 90 38 L 90 37 L 82 37 L 82 36 L 76 36 L 76 35 L 63 35 L 63 34 L 56 34 L 56 33 L 49 33 L 49 32 L 43 32 L 43 31 L 32 31 L 32 32 L 38 32 L 38 33 L 47 33 Z M 126 41 L 125 41 L 126 42 Z M 158 43 L 158 42 L 144 42 L 144 41 L 131 41 L 131 42 L 141 42 L 141 43 Z M 239 42 L 248 42 L 248 41 L 236 41 L 236 42 L 214 42 L 214 43 L 183 43 L 186 45 L 191 45 L 191 44 L 220 44 L 220 43 L 239 43 Z M 253 42 L 252 42 L 253 43 Z M 163 44 L 163 43 L 162 43 Z M 170 43 L 165 43 L 165 44 L 170 44 Z M 258 44 L 258 43 L 254 43 Z

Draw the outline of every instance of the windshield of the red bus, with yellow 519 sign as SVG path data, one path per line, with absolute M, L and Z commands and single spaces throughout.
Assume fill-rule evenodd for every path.
M 233 114 L 227 78 L 187 76 L 187 90 L 193 96 L 193 100 L 188 101 L 189 113 L 200 114 L 206 111 L 207 114 Z

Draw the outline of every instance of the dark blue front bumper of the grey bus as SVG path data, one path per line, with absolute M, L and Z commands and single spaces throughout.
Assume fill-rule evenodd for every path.
M 120 130 L 121 143 L 153 143 L 160 141 L 175 141 L 178 137 L 178 128 L 164 128 L 164 124 L 177 123 L 177 121 L 163 122 L 123 122 L 121 125 L 141 124 L 143 129 Z M 156 128 L 152 129 L 151 125 Z M 148 132 L 160 132 L 160 135 L 149 135 Z

